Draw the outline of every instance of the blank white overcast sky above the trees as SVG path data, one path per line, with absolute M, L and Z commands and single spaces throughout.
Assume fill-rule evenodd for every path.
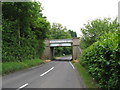
M 43 15 L 52 23 L 60 23 L 75 31 L 80 37 L 80 29 L 88 21 L 97 18 L 116 18 L 120 0 L 36 0 L 42 3 Z

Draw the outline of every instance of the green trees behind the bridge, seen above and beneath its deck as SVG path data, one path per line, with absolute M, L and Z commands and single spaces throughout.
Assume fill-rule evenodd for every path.
M 71 31 L 72 32 L 72 31 Z M 72 38 L 70 31 L 59 23 L 53 23 L 50 29 L 50 39 L 70 39 Z M 70 55 L 72 53 L 71 47 L 55 47 L 55 56 Z

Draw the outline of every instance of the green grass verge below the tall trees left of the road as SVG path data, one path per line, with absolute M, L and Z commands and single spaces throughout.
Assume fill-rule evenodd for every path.
M 22 70 L 25 68 L 30 68 L 32 66 L 40 65 L 43 63 L 43 60 L 33 59 L 33 60 L 25 60 L 22 62 L 5 62 L 2 63 L 2 75 L 9 74 L 11 72 L 15 72 L 18 70 Z

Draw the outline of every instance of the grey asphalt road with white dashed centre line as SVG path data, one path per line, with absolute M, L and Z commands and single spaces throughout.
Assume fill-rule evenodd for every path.
M 12 90 L 20 90 L 21 88 L 84 88 L 78 72 L 70 61 L 51 61 L 3 76 L 2 86 L 3 88 L 13 88 Z

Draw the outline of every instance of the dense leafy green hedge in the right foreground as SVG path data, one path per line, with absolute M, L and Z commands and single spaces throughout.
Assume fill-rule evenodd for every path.
M 83 51 L 80 60 L 100 88 L 120 89 L 120 37 L 118 30 L 108 32 Z

